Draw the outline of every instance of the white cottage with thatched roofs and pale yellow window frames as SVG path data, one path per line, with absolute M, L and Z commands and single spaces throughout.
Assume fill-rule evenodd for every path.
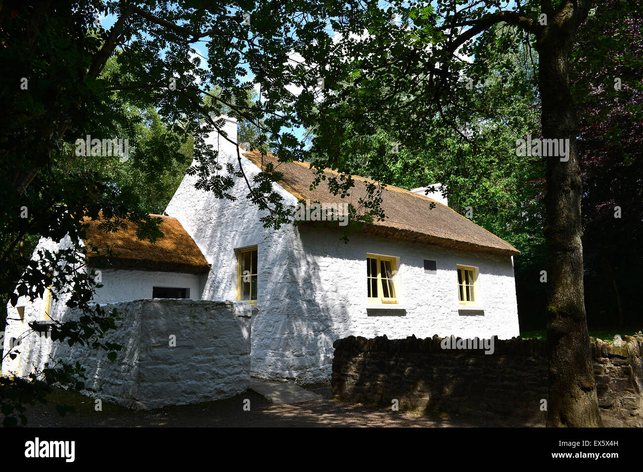
M 226 118 L 225 131 L 237 141 L 234 119 Z M 238 165 L 236 146 L 217 137 L 212 143 L 222 164 Z M 240 153 L 250 181 L 268 162 L 277 166 L 284 177 L 275 189 L 293 207 L 300 200 L 340 209 L 357 205 L 370 182 L 355 177 L 352 194 L 341 199 L 329 193 L 327 180 L 310 189 L 314 172 L 307 163 L 278 163 L 273 155 L 262 158 L 243 148 Z M 159 245 L 138 241 L 132 232 L 96 232 L 93 244 L 112 247 L 115 263 L 104 271 L 96 301 L 248 302 L 254 306 L 251 374 L 298 383 L 329 381 L 332 342 L 350 335 L 519 334 L 512 261 L 518 250 L 446 201 L 425 197 L 424 189 L 387 187 L 386 221 L 344 243 L 340 221 L 266 229 L 264 213 L 245 198 L 245 182 L 231 189 L 237 197 L 231 202 L 196 189 L 196 179 L 186 175 L 168 204 L 161 227 L 166 238 Z M 48 313 L 60 315 L 55 307 Z

